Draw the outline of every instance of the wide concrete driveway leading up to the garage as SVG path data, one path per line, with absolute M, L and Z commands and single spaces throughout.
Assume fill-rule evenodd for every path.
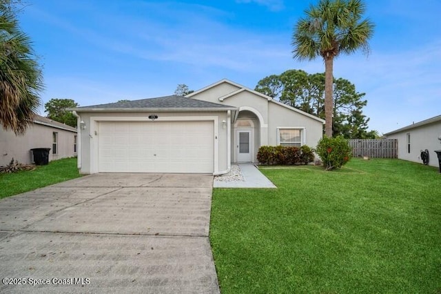
M 0 292 L 219 293 L 212 183 L 96 174 L 0 200 Z

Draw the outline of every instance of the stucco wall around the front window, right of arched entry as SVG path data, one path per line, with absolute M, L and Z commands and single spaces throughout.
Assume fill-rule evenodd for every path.
M 269 145 L 277 145 L 277 128 L 297 127 L 305 128 L 304 141 L 302 141 L 302 144 L 316 148 L 318 141 L 322 138 L 322 122 L 274 103 L 269 103 L 268 110 Z

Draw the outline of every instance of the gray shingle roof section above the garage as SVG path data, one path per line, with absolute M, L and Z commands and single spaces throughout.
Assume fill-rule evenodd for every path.
M 171 95 L 171 96 L 165 96 L 165 97 L 156 97 L 156 98 L 149 98 L 149 99 L 141 99 L 141 100 L 133 100 L 133 101 L 122 101 L 122 102 L 115 102 L 110 104 L 99 104 L 99 105 L 92 105 L 92 106 L 82 106 L 75 108 L 76 110 L 88 110 L 88 109 L 108 109 L 111 110 L 113 108 L 118 109 L 127 109 L 130 110 L 132 108 L 167 108 L 167 109 L 198 109 L 198 108 L 218 108 L 219 110 L 225 110 L 234 108 L 234 106 L 228 106 L 225 104 L 217 104 L 212 103 L 208 101 L 202 101 L 198 99 L 192 99 L 177 95 Z

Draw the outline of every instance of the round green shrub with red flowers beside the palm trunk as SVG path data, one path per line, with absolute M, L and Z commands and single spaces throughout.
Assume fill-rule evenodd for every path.
M 352 157 L 348 141 L 341 137 L 323 137 L 318 141 L 317 154 L 323 161 L 326 170 L 341 168 Z

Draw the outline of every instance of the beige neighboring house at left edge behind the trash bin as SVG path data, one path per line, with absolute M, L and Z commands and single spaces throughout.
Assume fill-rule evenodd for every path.
M 12 158 L 32 164 L 32 148 L 50 148 L 50 161 L 76 156 L 76 139 L 76 128 L 36 115 L 24 135 L 0 129 L 0 166 L 8 165 Z

